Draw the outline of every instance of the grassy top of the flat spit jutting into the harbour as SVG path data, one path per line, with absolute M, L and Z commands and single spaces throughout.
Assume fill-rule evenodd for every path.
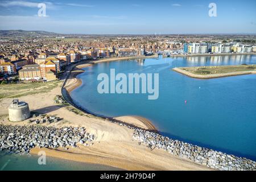
M 210 67 L 183 67 L 179 68 L 196 75 L 210 75 L 242 71 L 256 71 L 256 65 L 228 65 L 228 66 L 210 66 Z

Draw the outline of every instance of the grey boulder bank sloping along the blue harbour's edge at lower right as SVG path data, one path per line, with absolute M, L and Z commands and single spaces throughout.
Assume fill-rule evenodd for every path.
M 208 166 L 212 169 L 222 171 L 256 170 L 256 163 L 250 159 L 239 158 L 234 155 L 225 154 L 224 152 L 173 140 L 163 137 L 158 133 L 134 129 L 133 138 L 138 140 L 139 144 L 143 143 L 151 148 L 151 150 L 161 148 L 172 155 L 191 160 L 192 162 Z

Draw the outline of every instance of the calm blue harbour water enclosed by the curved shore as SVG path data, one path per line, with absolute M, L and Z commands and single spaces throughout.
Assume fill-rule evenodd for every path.
M 79 75 L 73 100 L 92 113 L 141 115 L 162 134 L 256 160 L 256 75 L 199 80 L 174 67 L 256 64 L 256 55 L 127 60 L 95 64 Z M 159 73 L 159 98 L 147 94 L 99 94 L 99 73 Z M 184 101 L 187 100 L 187 105 Z

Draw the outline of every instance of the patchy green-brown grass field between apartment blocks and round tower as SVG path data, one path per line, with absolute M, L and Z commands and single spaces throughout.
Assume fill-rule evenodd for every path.
M 0 98 L 17 98 L 36 93 L 48 92 L 61 85 L 62 81 L 35 82 L 28 84 L 0 85 Z

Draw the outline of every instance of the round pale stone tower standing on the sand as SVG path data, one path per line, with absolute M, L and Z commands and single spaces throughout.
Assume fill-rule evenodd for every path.
M 26 102 L 19 102 L 18 99 L 13 100 L 9 106 L 9 120 L 23 121 L 30 117 L 30 108 Z

